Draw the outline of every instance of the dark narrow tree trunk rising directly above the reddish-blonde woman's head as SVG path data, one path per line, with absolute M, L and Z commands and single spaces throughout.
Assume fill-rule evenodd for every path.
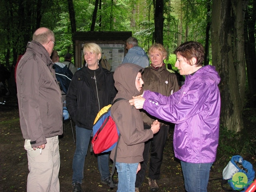
M 164 0 L 156 0 L 155 11 L 155 42 L 163 44 Z

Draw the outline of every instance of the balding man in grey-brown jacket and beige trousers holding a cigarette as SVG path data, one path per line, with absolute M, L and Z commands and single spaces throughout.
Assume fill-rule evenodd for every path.
M 16 72 L 20 127 L 28 155 L 27 192 L 59 192 L 62 98 L 50 59 L 55 44 L 48 28 L 38 28 Z

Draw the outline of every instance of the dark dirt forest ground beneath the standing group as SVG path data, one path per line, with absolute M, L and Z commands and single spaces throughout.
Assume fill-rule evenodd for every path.
M 75 134 L 75 127 L 74 134 Z M 184 192 L 184 181 L 179 160 L 174 158 L 172 148 L 173 129 L 164 150 L 164 160 L 161 167 L 160 180 L 157 181 L 160 192 Z M 60 137 L 60 191 L 72 192 L 72 159 L 76 149 L 72 136 L 70 122 L 65 124 L 64 135 Z M 6 102 L 0 105 L 0 191 L 26 192 L 28 175 L 27 154 L 24 150 L 24 139 L 19 124 L 19 112 L 16 102 Z M 226 164 L 215 163 L 210 172 L 209 192 L 221 192 L 222 170 Z M 112 162 L 110 161 L 110 171 Z M 114 174 L 117 180 L 117 174 Z M 82 189 L 86 192 L 108 192 L 108 186 L 100 183 L 97 158 L 88 150 L 84 165 L 84 180 Z M 140 192 L 148 192 L 148 179 L 145 178 Z

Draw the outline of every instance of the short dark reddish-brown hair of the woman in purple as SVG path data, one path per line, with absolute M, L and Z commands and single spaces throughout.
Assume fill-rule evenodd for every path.
M 174 54 L 179 54 L 184 57 L 187 62 L 193 57 L 196 58 L 195 65 L 203 65 L 204 61 L 204 47 L 202 44 L 196 41 L 188 41 L 176 48 Z

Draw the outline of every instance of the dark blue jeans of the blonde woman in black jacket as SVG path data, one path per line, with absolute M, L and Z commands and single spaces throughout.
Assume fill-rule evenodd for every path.
M 76 126 L 76 152 L 73 158 L 72 184 L 79 182 L 82 184 L 84 178 L 84 161 L 90 144 L 92 130 Z M 110 176 L 108 168 L 108 153 L 98 155 L 98 168 L 100 178 L 103 180 Z

